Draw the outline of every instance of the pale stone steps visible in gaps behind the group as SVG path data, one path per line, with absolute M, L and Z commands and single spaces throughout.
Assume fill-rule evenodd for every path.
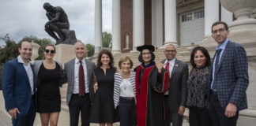
M 215 53 L 215 46 L 216 43 L 208 43 L 208 41 L 213 41 L 211 39 L 208 39 L 207 42 L 205 40 L 205 42 L 201 43 L 200 46 L 205 46 L 205 48 L 207 50 L 209 50 L 209 54 L 210 56 L 213 58 L 213 55 Z M 254 54 L 251 54 L 250 49 L 254 49 L 256 44 L 252 43 L 249 44 L 249 46 L 247 46 L 248 44 L 242 44 L 242 46 L 244 46 L 248 52 L 248 56 L 254 56 Z M 186 61 L 189 62 L 190 61 L 190 52 L 191 50 L 194 48 L 194 46 L 198 46 L 198 45 L 192 45 L 192 46 L 177 46 L 176 50 L 177 50 L 177 54 L 176 54 L 176 58 L 178 58 L 181 61 Z M 133 69 L 137 66 L 140 65 L 141 62 L 138 61 L 138 55 L 140 54 L 140 52 L 135 51 L 135 52 L 130 52 L 130 53 L 124 53 L 124 54 L 113 54 L 113 57 L 115 59 L 115 67 L 119 69 L 119 60 L 122 56 L 128 56 L 131 58 L 131 60 L 134 62 L 134 67 Z M 155 55 L 157 55 L 158 57 L 160 57 L 160 60 L 164 60 L 165 55 L 164 55 L 164 48 L 160 48 L 155 52 Z M 91 60 L 96 62 L 96 57 L 91 57 Z M 67 85 L 67 84 L 66 84 Z M 63 88 L 64 87 L 64 88 Z M 63 89 L 62 89 L 62 110 L 68 112 L 68 107 L 66 106 L 66 87 L 65 85 L 63 85 Z M 65 92 L 65 93 L 63 93 Z M 65 96 L 64 96 L 65 95 Z M 254 102 L 254 101 L 249 101 L 249 102 Z M 188 126 L 189 125 L 189 109 L 186 109 L 185 113 L 184 113 L 184 120 L 183 120 L 183 126 Z M 238 126 L 250 126 L 250 125 L 254 125 L 256 124 L 256 109 L 245 109 L 243 111 L 239 112 L 239 120 L 237 125 Z M 117 124 L 119 125 L 119 124 Z

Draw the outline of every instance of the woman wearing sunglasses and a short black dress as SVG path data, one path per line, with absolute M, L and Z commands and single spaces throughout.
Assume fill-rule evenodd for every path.
M 59 86 L 61 83 L 62 65 L 53 60 L 55 46 L 44 47 L 45 60 L 35 61 L 37 80 L 37 112 L 43 126 L 57 125 L 61 109 Z

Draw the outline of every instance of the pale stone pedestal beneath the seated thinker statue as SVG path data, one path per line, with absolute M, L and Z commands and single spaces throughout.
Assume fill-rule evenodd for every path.
M 70 61 L 73 59 L 75 56 L 73 50 L 74 46 L 73 45 L 66 45 L 66 44 L 60 44 L 55 46 L 56 47 L 56 54 L 55 54 L 55 61 L 59 61 L 64 65 L 66 61 Z

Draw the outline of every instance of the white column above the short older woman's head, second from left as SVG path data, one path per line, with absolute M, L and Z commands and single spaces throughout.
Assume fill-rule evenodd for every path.
M 120 0 L 112 0 L 112 54 L 120 54 L 121 48 Z

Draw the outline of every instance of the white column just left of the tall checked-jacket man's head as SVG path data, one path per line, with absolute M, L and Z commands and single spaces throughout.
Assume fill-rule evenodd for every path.
M 212 35 L 212 25 L 219 19 L 219 0 L 205 0 L 205 37 Z

